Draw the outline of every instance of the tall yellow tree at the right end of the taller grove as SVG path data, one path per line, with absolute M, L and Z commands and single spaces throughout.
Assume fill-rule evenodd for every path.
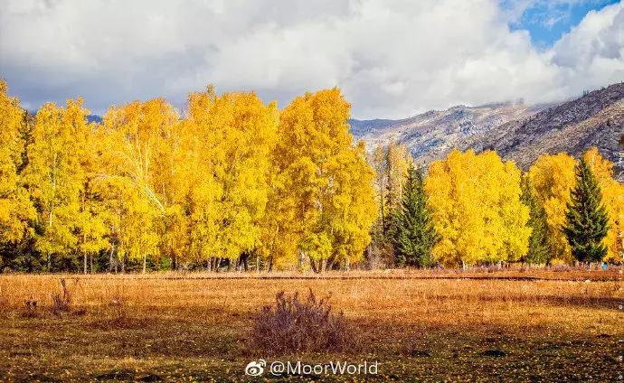
M 335 88 L 295 98 L 280 114 L 278 185 L 293 219 L 284 231 L 298 237 L 299 266 L 307 258 L 316 271 L 361 260 L 376 214 L 373 169 L 353 146 L 349 111 Z

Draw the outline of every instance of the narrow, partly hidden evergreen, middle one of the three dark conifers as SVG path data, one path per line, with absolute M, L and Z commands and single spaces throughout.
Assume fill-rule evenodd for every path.
M 529 208 L 527 225 L 531 228 L 529 249 L 524 261 L 530 264 L 547 264 L 551 259 L 551 251 L 548 246 L 546 210 L 537 199 L 534 188 L 527 177 L 522 179 L 522 201 Z

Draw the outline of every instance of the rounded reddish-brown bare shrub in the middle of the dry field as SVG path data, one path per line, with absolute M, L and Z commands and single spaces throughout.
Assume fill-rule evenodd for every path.
M 354 345 L 344 313 L 332 313 L 329 297 L 307 298 L 280 292 L 275 304 L 262 308 L 253 326 L 251 342 L 265 352 L 341 351 Z

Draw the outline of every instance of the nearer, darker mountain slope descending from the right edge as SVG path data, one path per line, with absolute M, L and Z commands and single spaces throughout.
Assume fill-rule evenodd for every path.
M 591 146 L 615 163 L 624 178 L 624 82 L 513 121 L 458 143 L 460 148 L 496 149 L 527 168 L 540 154 L 566 152 L 576 157 Z

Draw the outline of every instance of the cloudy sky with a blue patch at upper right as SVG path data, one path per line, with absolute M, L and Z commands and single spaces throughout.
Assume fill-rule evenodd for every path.
M 358 118 L 624 80 L 624 4 L 600 0 L 0 0 L 0 77 L 24 107 L 339 86 Z

